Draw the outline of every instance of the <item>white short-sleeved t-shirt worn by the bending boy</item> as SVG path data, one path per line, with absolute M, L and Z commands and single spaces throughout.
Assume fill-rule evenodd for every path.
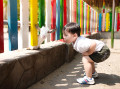
M 91 42 L 96 42 L 95 51 L 100 51 L 102 47 L 105 45 L 102 41 L 95 40 L 95 39 L 88 39 L 83 36 L 80 36 L 76 39 L 75 43 L 73 44 L 73 48 L 80 53 L 84 53 L 89 50 Z

